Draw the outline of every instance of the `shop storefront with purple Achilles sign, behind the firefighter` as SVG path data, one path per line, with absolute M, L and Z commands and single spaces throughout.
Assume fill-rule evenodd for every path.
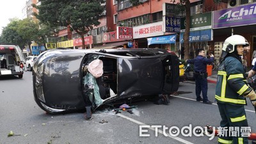
M 247 67 L 252 65 L 252 52 L 256 48 L 256 4 L 247 4 L 225 10 L 214 11 L 212 29 L 214 43 L 212 47 L 220 47 L 228 36 L 242 35 L 248 40 L 250 47 L 245 47 L 243 62 Z

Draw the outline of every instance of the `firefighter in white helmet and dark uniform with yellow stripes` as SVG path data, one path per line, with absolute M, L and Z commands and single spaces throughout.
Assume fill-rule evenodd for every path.
M 248 143 L 248 138 L 241 136 L 243 127 L 248 128 L 245 97 L 254 102 L 253 106 L 256 102 L 255 92 L 243 81 L 246 76 L 240 56 L 248 46 L 241 35 L 229 36 L 223 44 L 215 94 L 221 116 L 218 143 Z

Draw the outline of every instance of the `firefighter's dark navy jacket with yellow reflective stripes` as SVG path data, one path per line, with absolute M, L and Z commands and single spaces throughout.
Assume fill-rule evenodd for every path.
M 215 99 L 220 103 L 244 105 L 243 93 L 252 90 L 244 81 L 244 68 L 241 61 L 228 56 L 220 64 Z

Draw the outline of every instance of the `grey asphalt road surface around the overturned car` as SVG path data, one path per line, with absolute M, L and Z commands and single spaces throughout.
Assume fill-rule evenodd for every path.
M 180 83 L 179 95 L 171 96 L 169 105 L 156 105 L 145 100 L 134 103 L 138 108 L 132 110 L 133 114 L 122 111 L 116 115 L 112 111 L 100 110 L 93 113 L 93 120 L 87 121 L 83 113 L 45 114 L 33 99 L 31 78 L 31 72 L 25 72 L 22 79 L 0 78 L 0 144 L 217 143 L 216 137 L 209 140 L 209 136 L 195 136 L 193 133 L 191 136 L 182 136 L 181 133 L 170 136 L 168 131 L 175 126 L 179 129 L 189 125 L 192 129 L 207 124 L 219 126 L 221 118 L 216 102 L 212 105 L 196 102 L 193 82 Z M 214 101 L 215 84 L 209 83 L 208 86 L 209 100 Z M 245 108 L 248 123 L 256 132 L 252 104 Z M 140 132 L 140 125 L 159 125 L 161 128 L 156 131 L 152 127 L 143 127 L 144 132 Z M 168 127 L 166 136 L 164 126 Z M 10 131 L 17 136 L 8 137 Z

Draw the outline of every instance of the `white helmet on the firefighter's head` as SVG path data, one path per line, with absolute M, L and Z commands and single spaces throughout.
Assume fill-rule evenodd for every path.
M 228 53 L 234 52 L 236 45 L 244 45 L 244 47 L 248 47 L 249 43 L 244 36 L 232 35 L 225 40 L 222 50 Z

